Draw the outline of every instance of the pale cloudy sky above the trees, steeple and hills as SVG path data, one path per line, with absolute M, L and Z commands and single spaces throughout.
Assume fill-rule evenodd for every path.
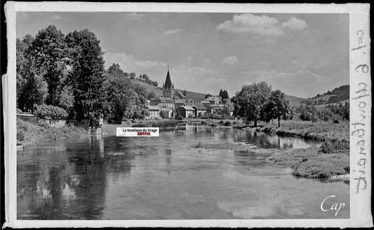
M 307 98 L 349 84 L 348 14 L 18 12 L 16 36 L 55 24 L 65 35 L 89 29 L 105 69 L 165 81 L 176 89 L 234 96 L 243 85 Z

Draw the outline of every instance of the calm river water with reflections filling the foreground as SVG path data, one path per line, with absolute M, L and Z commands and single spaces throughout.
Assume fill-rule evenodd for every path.
M 18 151 L 18 219 L 147 220 L 349 218 L 349 185 L 295 178 L 269 154 L 187 145 L 246 142 L 261 148 L 319 143 L 239 129 L 185 127 L 159 137 L 89 137 Z M 344 202 L 335 211 L 321 211 Z

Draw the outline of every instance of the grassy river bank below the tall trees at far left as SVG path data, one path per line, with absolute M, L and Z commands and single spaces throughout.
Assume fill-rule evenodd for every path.
M 17 119 L 17 142 L 23 145 L 39 141 L 80 138 L 87 135 L 89 135 L 87 127 L 67 125 L 66 127 L 53 128 Z

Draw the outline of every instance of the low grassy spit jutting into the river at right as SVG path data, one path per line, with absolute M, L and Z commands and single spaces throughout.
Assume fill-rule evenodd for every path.
M 306 178 L 331 178 L 349 173 L 348 154 L 324 154 L 319 148 L 284 150 L 269 160 L 293 168 L 293 175 Z

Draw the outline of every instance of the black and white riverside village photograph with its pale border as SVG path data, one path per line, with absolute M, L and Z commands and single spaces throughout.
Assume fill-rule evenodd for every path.
M 371 189 L 370 61 L 352 89 L 369 31 L 348 11 L 152 6 L 15 10 L 15 220 L 348 223 Z

